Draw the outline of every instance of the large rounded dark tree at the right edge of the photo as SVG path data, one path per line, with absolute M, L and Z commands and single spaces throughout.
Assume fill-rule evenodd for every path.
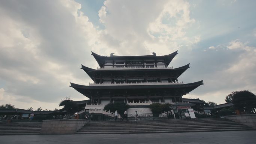
M 250 91 L 234 91 L 231 93 L 234 108 L 241 113 L 255 113 L 256 95 Z

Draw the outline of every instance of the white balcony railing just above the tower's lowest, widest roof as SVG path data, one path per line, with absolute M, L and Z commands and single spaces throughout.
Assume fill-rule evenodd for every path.
M 182 82 L 136 82 L 136 83 L 89 83 L 89 86 L 122 86 L 122 85 L 182 85 Z

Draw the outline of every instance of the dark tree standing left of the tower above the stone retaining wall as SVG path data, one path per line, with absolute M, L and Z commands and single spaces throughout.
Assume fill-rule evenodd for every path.
M 70 119 L 71 114 L 74 114 L 79 110 L 77 104 L 74 103 L 69 97 L 62 99 L 59 106 L 64 106 L 60 111 L 67 111 L 66 119 Z

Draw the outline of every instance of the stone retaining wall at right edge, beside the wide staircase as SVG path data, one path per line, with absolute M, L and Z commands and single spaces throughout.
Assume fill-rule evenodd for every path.
M 256 114 L 242 114 L 242 115 L 234 115 L 234 116 L 225 116 L 225 118 L 241 123 L 243 125 L 250 126 L 252 128 L 256 128 Z

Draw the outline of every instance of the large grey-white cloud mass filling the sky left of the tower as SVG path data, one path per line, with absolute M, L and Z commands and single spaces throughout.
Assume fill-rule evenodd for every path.
M 1 2 L 1 102 L 55 108 L 65 96 L 85 99 L 68 85 L 90 81 L 79 68 L 93 59 L 99 33 L 80 8 L 75 1 Z

